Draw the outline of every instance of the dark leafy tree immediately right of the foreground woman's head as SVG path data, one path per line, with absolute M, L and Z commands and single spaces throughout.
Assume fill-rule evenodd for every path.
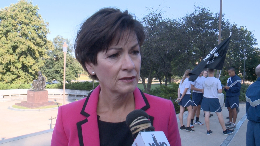
M 151 11 L 143 18 L 146 39 L 142 46 L 142 65 L 140 77 L 146 92 L 150 91 L 152 78 L 161 80 L 162 73 L 168 75 L 172 57 L 172 29 L 174 20 L 163 18 L 162 11 Z M 171 71 L 170 71 L 171 72 Z M 147 86 L 145 82 L 147 78 Z M 166 77 L 167 85 L 167 77 Z

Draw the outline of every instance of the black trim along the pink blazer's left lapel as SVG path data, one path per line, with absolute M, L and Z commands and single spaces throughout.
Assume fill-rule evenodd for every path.
M 80 114 L 81 115 L 84 115 L 86 117 L 89 117 L 90 115 L 88 113 L 86 113 L 84 110 L 87 106 L 87 103 L 88 103 L 88 99 L 90 97 L 90 94 L 92 93 L 92 91 L 88 94 L 84 104 L 83 104 L 83 107 L 81 109 L 81 112 Z M 88 119 L 86 118 L 85 120 L 82 120 L 80 122 L 77 122 L 77 129 L 78 129 L 78 136 L 79 136 L 79 142 L 80 142 L 80 146 L 84 146 L 83 144 L 83 136 L 82 136 L 82 128 L 81 128 L 81 125 L 83 125 L 84 123 L 87 123 L 88 122 Z

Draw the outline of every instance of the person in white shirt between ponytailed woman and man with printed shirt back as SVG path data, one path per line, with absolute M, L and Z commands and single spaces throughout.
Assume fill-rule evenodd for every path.
M 193 126 L 193 120 L 195 117 L 196 112 L 196 120 L 194 124 L 203 125 L 202 122 L 199 121 L 199 114 L 200 114 L 200 105 L 203 99 L 203 93 L 202 93 L 202 84 L 204 83 L 205 77 L 202 76 L 203 72 L 200 73 L 200 75 L 196 78 L 194 82 L 191 82 L 191 90 L 192 92 L 192 118 L 191 118 L 191 128 L 194 128 Z

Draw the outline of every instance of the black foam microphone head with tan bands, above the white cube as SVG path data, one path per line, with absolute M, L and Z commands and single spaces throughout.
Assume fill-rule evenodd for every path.
M 126 125 L 129 126 L 134 139 L 140 131 L 154 131 L 148 119 L 149 116 L 144 110 L 133 110 L 126 116 Z

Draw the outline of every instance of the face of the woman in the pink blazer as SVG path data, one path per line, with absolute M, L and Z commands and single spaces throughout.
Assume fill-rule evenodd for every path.
M 133 92 L 138 84 L 141 68 L 140 46 L 135 33 L 130 36 L 125 33 L 118 44 L 112 43 L 107 52 L 99 52 L 97 64 L 92 65 L 101 90 Z

